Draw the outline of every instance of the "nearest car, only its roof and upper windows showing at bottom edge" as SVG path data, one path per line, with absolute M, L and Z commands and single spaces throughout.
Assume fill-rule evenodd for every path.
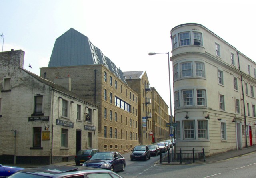
M 115 172 L 98 168 L 85 168 L 82 166 L 56 166 L 49 165 L 38 168 L 19 170 L 8 178 L 95 178 L 115 177 L 122 178 Z

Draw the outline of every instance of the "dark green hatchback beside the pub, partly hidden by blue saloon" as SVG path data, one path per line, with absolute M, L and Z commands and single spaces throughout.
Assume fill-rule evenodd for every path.
M 76 153 L 75 156 L 75 162 L 76 166 L 80 165 L 80 163 L 84 163 L 96 153 L 99 152 L 97 149 L 91 149 L 91 150 L 80 150 Z

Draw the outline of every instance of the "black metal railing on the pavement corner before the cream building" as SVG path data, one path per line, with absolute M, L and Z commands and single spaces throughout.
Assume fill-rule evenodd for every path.
M 179 152 L 174 151 L 173 153 L 168 150 L 167 153 L 160 153 L 160 163 L 162 162 L 196 162 L 205 161 L 204 148 L 202 150 L 184 151 L 180 149 Z

